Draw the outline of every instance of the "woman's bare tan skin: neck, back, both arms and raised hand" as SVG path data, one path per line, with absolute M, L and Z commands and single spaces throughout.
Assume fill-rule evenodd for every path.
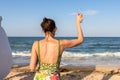
M 83 33 L 81 29 L 81 22 L 83 21 L 83 15 L 78 13 L 76 17 L 76 26 L 78 31 L 78 38 L 73 40 L 60 40 L 60 54 L 66 48 L 75 47 L 83 42 Z M 48 63 L 48 64 L 55 64 L 58 59 L 58 40 L 54 38 L 54 34 L 56 29 L 53 32 L 46 32 L 45 38 L 40 40 L 40 62 Z M 33 43 L 32 46 L 32 53 L 31 53 L 31 60 L 30 60 L 30 70 L 36 71 L 38 60 L 38 41 Z

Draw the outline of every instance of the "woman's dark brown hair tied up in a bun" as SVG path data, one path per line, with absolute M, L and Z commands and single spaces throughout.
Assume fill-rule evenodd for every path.
M 43 22 L 41 23 L 41 27 L 43 31 L 46 32 L 53 32 L 53 30 L 56 28 L 55 21 L 49 18 L 43 18 Z

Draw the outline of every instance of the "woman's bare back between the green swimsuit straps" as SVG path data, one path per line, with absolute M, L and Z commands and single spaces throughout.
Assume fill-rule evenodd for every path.
M 39 42 L 39 45 L 40 45 L 40 61 L 48 64 L 56 63 L 59 55 L 58 40 L 52 39 L 46 41 L 45 39 L 43 39 Z

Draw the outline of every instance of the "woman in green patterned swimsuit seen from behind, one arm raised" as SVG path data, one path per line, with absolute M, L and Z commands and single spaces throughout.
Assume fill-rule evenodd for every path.
M 52 19 L 43 19 L 41 27 L 45 33 L 45 38 L 35 41 L 32 46 L 30 69 L 31 71 L 36 71 L 34 80 L 60 80 L 59 66 L 63 51 L 83 42 L 80 25 L 82 21 L 83 15 L 78 13 L 76 18 L 77 39 L 57 40 L 54 38 L 57 29 L 55 22 Z M 36 70 L 37 61 L 39 62 L 38 71 Z

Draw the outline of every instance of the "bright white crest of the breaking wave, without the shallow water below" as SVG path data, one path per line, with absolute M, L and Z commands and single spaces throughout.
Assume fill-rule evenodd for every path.
M 30 51 L 23 51 L 23 52 L 12 52 L 14 57 L 16 56 L 23 56 L 23 57 L 30 57 Z M 120 57 L 120 52 L 101 52 L 101 53 L 81 53 L 81 52 L 67 52 L 64 51 L 62 57 L 63 58 L 73 58 L 73 57 Z

